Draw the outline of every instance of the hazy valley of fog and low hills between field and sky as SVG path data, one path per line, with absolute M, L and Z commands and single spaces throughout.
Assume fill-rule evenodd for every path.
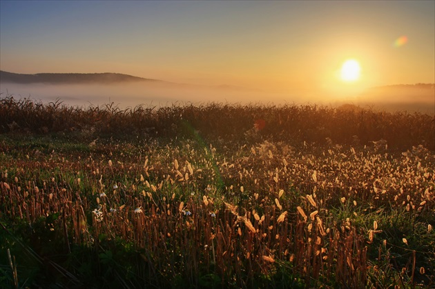
M 435 86 L 432 83 L 378 86 L 347 97 L 336 97 L 304 90 L 267 91 L 224 84 L 200 86 L 119 73 L 0 73 L 2 97 L 12 94 L 43 103 L 59 99 L 70 106 L 115 103 L 119 108 L 127 108 L 211 102 L 342 106 L 348 103 L 378 110 L 435 113 Z

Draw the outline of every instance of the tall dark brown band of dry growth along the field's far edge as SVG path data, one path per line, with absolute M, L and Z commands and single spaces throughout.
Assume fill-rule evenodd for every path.
M 423 145 L 435 150 L 435 119 L 428 114 L 342 110 L 322 106 L 241 106 L 209 103 L 121 110 L 113 103 L 79 108 L 61 101 L 44 105 L 31 99 L 0 98 L 0 132 L 75 132 L 82 141 L 97 137 L 169 137 L 193 130 L 209 142 L 239 144 L 273 140 L 368 146 L 385 140 L 390 149 Z

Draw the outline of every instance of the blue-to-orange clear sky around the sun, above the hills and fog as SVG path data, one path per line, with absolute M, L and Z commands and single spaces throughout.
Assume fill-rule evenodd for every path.
M 435 83 L 435 1 L 0 1 L 0 69 L 345 94 Z M 355 81 L 340 78 L 355 59 Z

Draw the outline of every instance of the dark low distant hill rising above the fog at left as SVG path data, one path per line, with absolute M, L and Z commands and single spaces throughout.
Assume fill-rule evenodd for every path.
M 37 73 L 20 74 L 0 70 L 0 81 L 12 83 L 117 83 L 117 82 L 164 82 L 156 79 L 133 77 L 120 73 Z

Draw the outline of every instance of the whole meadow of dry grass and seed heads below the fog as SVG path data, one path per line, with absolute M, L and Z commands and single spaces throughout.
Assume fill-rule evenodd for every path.
M 0 99 L 6 288 L 433 288 L 435 119 Z

